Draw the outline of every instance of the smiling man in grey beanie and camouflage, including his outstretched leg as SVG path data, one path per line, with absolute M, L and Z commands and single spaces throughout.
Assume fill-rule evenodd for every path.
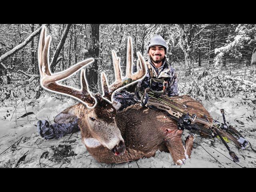
M 147 74 L 143 80 L 137 84 L 128 86 L 126 90 L 118 91 L 114 94 L 114 107 L 116 110 L 122 110 L 127 106 L 140 102 L 142 96 L 140 89 L 151 88 L 158 94 L 166 96 L 178 95 L 178 77 L 174 68 L 168 64 L 166 54 L 168 46 L 166 41 L 160 35 L 156 35 L 150 39 L 147 46 L 148 59 L 146 64 L 148 67 Z M 126 80 L 123 83 L 130 83 Z M 77 121 L 69 124 L 49 124 L 46 120 L 38 121 L 38 132 L 45 139 L 58 139 L 66 134 L 79 131 Z

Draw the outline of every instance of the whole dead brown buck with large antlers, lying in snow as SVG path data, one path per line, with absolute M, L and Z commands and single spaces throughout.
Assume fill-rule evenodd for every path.
M 78 118 L 82 142 L 98 162 L 120 163 L 138 160 L 142 157 L 154 156 L 157 150 L 170 152 L 174 163 L 177 164 L 182 164 L 187 157 L 190 157 L 193 137 L 189 136 L 186 139 L 184 148 L 181 140 L 182 130 L 177 128 L 175 121 L 166 118 L 163 112 L 144 108 L 140 104 L 116 111 L 111 103 L 112 94 L 122 87 L 122 78 L 120 59 L 114 51 L 112 51 L 112 59 L 116 81 L 108 86 L 105 74 L 102 73 L 104 96 L 100 93 L 92 96 L 87 90 L 84 70 L 81 72 L 80 90 L 57 84 L 56 81 L 68 78 L 86 64 L 93 62 L 93 59 L 86 59 L 64 72 L 51 74 L 48 66 L 49 42 L 50 36 L 45 40 L 45 28 L 43 28 L 38 53 L 42 87 L 81 101 L 58 114 L 54 122 L 68 123 Z M 134 81 L 146 75 L 144 58 L 139 52 L 137 55 L 138 72 L 132 74 L 132 42 L 131 38 L 128 38 L 126 77 Z M 196 102 L 191 98 L 186 101 Z M 198 102 L 195 104 L 202 106 Z

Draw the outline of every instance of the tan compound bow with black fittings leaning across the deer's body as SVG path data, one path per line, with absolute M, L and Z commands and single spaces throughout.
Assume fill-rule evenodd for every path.
M 154 92 L 150 88 L 139 88 L 138 92 L 140 92 L 142 95 L 141 106 L 146 106 L 154 110 L 162 110 L 170 118 L 177 122 L 177 126 L 180 130 L 186 129 L 192 133 L 193 131 L 198 131 L 206 134 L 211 138 L 218 136 L 228 149 L 228 152 L 233 161 L 239 162 L 238 156 L 236 156 L 236 154 L 230 149 L 225 139 L 227 138 L 228 140 L 231 140 L 238 148 L 242 149 L 246 147 L 248 140 L 246 140 L 246 138 L 244 138 L 244 136 L 242 136 L 242 134 L 240 134 L 236 128 L 226 122 L 224 109 L 220 110 L 224 123 L 214 119 L 212 119 L 213 122 L 210 122 L 209 117 L 206 115 L 204 115 L 205 119 L 198 118 L 196 114 L 190 115 L 189 113 L 184 112 L 182 109 L 172 104 L 179 104 L 178 102 L 175 102 L 170 98 L 168 98 L 170 102 L 167 102 L 166 100 L 163 100 L 164 96 Z

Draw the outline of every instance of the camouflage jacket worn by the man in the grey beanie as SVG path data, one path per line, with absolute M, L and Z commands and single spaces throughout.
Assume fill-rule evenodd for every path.
M 154 64 L 152 64 L 151 60 L 148 60 L 152 72 L 154 74 L 154 78 L 157 79 L 164 79 L 165 81 L 168 81 L 168 84 L 166 85 L 166 91 L 165 94 L 168 96 L 175 96 L 178 95 L 178 76 L 175 73 L 174 68 L 168 64 L 166 61 L 166 58 L 164 58 L 164 63 L 160 68 L 156 68 Z M 150 84 L 150 72 L 149 69 L 147 71 L 147 74 L 143 80 L 138 81 L 137 87 L 149 87 Z

